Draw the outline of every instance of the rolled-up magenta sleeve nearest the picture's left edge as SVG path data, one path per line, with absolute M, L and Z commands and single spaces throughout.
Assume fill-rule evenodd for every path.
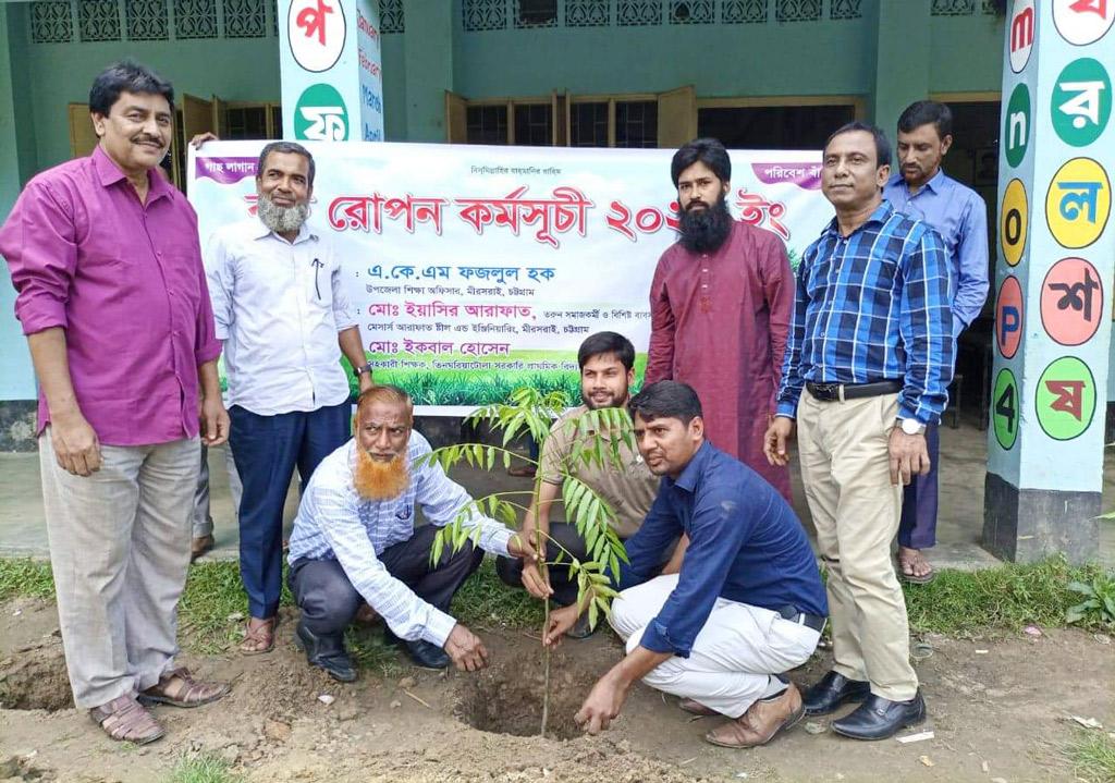
M 0 229 L 0 255 L 11 272 L 16 317 L 25 335 L 68 326 L 66 303 L 77 267 L 74 209 L 32 181 Z

